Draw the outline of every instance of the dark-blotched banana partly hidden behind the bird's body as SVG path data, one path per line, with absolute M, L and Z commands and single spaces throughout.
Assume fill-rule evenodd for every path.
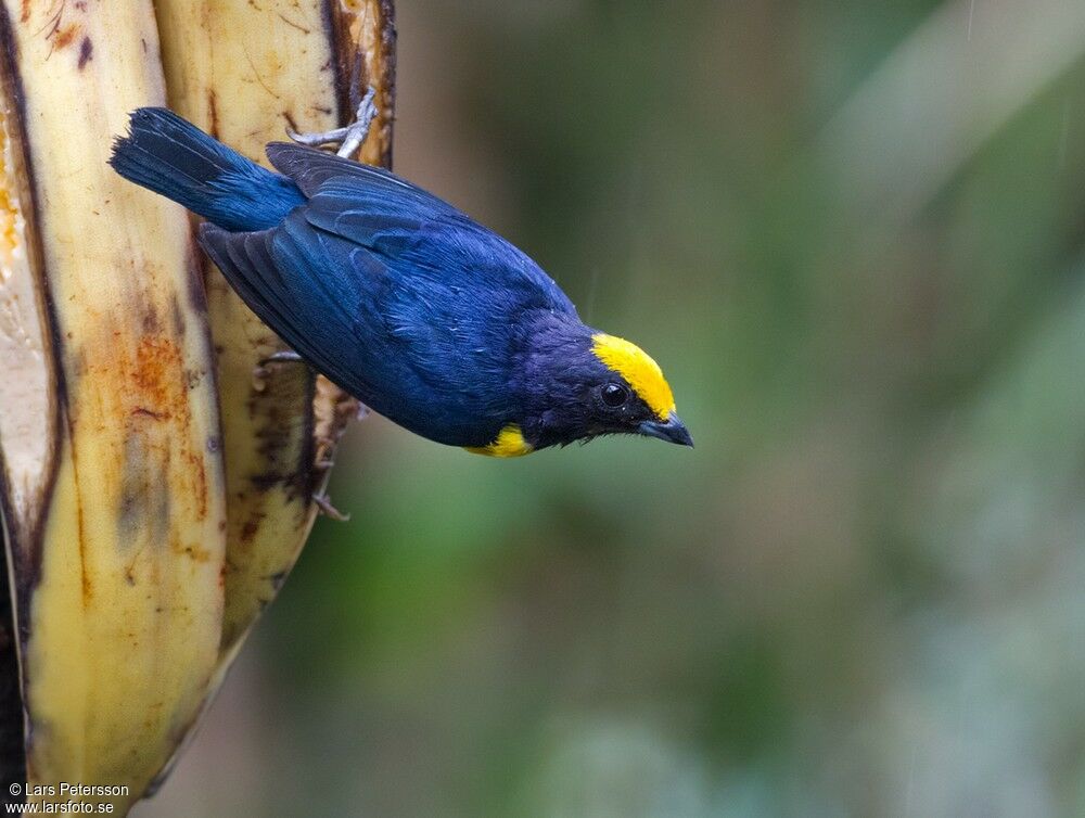
M 391 153 L 394 29 L 388 0 L 156 0 L 170 107 L 252 159 L 286 128 L 348 123 L 368 86 L 380 115 L 362 161 Z M 298 363 L 206 263 L 227 469 L 221 668 L 275 598 L 316 515 L 353 399 Z

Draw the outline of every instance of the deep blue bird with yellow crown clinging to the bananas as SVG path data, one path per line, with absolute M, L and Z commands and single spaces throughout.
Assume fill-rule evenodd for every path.
M 268 143 L 269 170 L 140 107 L 110 164 L 202 216 L 201 247 L 260 320 L 417 435 L 493 457 L 611 434 L 692 447 L 655 360 L 585 324 L 525 253 L 391 171 L 315 146 L 353 150 L 373 112 Z

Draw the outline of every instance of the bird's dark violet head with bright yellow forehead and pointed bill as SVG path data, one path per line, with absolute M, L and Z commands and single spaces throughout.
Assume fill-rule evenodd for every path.
M 526 450 L 634 434 L 692 446 L 660 366 L 640 347 L 583 324 L 549 324 L 524 365 Z

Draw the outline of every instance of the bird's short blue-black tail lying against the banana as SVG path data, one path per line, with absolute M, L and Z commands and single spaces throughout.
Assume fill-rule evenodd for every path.
M 267 170 L 162 107 L 131 113 L 110 158 L 126 179 L 161 193 L 226 230 L 275 227 L 305 199 Z

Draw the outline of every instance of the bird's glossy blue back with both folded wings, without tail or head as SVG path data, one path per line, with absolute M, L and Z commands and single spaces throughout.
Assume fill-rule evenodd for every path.
M 516 411 L 532 312 L 576 312 L 526 255 L 383 170 L 269 145 L 304 201 L 255 232 L 204 226 L 260 318 L 372 409 L 433 439 L 485 445 Z

